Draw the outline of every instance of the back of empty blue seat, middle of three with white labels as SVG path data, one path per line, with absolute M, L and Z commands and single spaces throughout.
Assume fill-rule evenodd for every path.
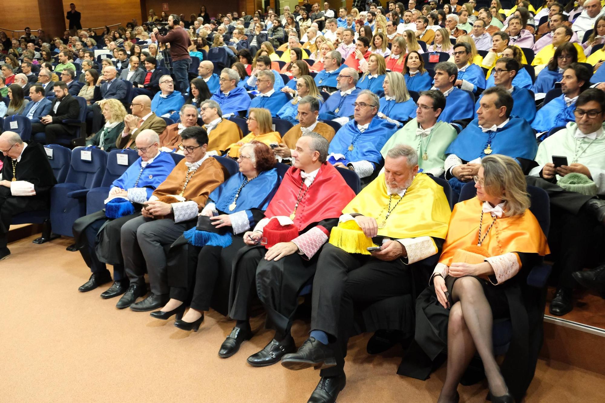
M 90 151 L 90 161 L 82 159 L 82 152 Z M 75 148 L 71 152 L 70 169 L 65 182 L 77 183 L 86 189 L 98 188 L 107 166 L 107 152 L 95 147 Z

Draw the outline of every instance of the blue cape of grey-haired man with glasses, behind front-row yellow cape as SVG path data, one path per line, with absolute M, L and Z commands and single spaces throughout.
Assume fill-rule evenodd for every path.
M 339 129 L 328 148 L 329 154 L 342 154 L 344 161 L 335 160 L 330 156 L 329 162 L 335 160 L 334 162 L 347 165 L 349 162 L 369 161 L 378 165 L 382 160 L 380 150 L 394 133 L 395 128 L 394 123 L 374 117 L 362 133 L 357 127 L 357 122 L 354 119 L 349 120 Z M 353 145 L 352 150 L 350 150 L 351 145 Z

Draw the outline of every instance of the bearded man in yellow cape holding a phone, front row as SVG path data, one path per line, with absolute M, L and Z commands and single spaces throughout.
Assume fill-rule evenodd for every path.
M 335 402 L 344 388 L 344 358 L 348 337 L 354 334 L 354 307 L 413 293 L 412 270 L 439 254 L 451 214 L 443 188 L 418 173 L 416 150 L 405 145 L 388 152 L 385 173 L 342 208 L 342 213 L 317 261 L 310 337 L 296 353 L 281 359 L 287 369 L 322 368 L 322 379 L 310 401 Z M 374 242 L 378 251 L 368 252 Z M 257 280 L 257 287 L 263 283 Z M 391 308 L 402 309 L 392 303 Z M 370 326 L 388 326 L 385 319 L 367 320 Z M 399 324 L 402 329 L 413 326 L 411 319 L 402 321 L 409 321 Z

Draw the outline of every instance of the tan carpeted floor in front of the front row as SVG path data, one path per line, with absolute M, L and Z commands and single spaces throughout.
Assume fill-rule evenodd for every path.
M 77 292 L 90 272 L 77 252 L 65 251 L 68 238 L 43 245 L 34 238 L 10 244 L 13 254 L 0 262 L 0 402 L 306 402 L 315 388 L 314 370 L 246 363 L 272 337 L 262 316 L 237 355 L 218 358 L 231 320 L 211 312 L 200 332 L 189 333 L 174 319 L 117 310 L 117 299 L 99 298 L 108 286 Z M 307 323 L 295 323 L 298 344 L 307 331 Z M 436 401 L 444 367 L 425 382 L 402 378 L 401 347 L 369 356 L 369 336 L 350 341 L 339 402 Z M 478 384 L 459 392 L 461 402 L 483 402 L 487 390 Z M 540 360 L 526 401 L 588 403 L 604 395 L 605 376 Z

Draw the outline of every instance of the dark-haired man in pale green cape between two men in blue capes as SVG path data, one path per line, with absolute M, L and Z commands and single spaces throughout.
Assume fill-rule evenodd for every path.
M 386 158 L 387 152 L 397 144 L 417 147 L 422 172 L 440 177 L 445 171 L 445 150 L 458 133 L 449 123 L 437 121 L 445 108 L 442 93 L 436 90 L 422 91 L 416 105 L 416 117 L 388 139 L 381 154 Z

